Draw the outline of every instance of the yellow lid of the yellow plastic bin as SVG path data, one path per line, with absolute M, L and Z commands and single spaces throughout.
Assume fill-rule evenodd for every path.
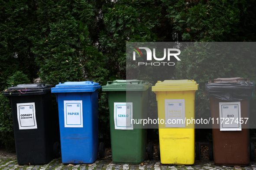
M 194 80 L 165 80 L 158 81 L 155 86 L 152 86 L 152 91 L 198 90 L 198 85 Z

